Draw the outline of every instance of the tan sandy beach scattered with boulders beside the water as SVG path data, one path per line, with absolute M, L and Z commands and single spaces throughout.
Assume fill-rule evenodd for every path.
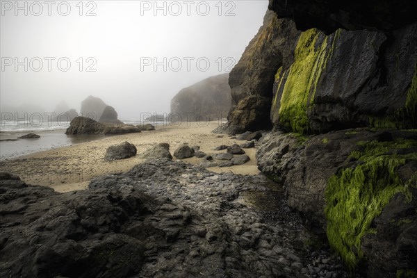
M 139 154 L 160 142 L 170 144 L 171 154 L 174 154 L 174 150 L 184 142 L 190 146 L 198 145 L 200 150 L 206 154 L 226 152 L 225 150 L 213 150 L 219 145 L 233 145 L 234 142 L 238 144 L 244 142 L 226 134 L 211 133 L 213 129 L 218 127 L 218 124 L 218 122 L 207 124 L 183 122 L 176 126 L 172 124 L 156 126 L 155 131 L 108 136 L 99 140 L 82 142 L 2 161 L 0 171 L 17 174 L 26 183 L 49 186 L 58 192 L 81 190 L 86 188 L 94 177 L 130 170 L 134 165 L 143 161 L 139 158 Z M 135 145 L 138 154 L 124 160 L 105 161 L 106 149 L 124 141 Z M 256 149 L 245 149 L 245 152 L 250 156 L 250 161 L 244 165 L 210 167 L 208 170 L 219 173 L 231 171 L 235 174 L 259 174 L 255 159 Z M 183 159 L 183 161 L 198 164 L 200 159 L 193 157 Z

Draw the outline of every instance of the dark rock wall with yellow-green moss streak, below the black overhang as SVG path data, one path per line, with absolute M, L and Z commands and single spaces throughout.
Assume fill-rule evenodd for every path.
M 391 35 L 304 31 L 294 63 L 277 70 L 272 124 L 299 133 L 415 128 L 416 34 L 417 24 Z

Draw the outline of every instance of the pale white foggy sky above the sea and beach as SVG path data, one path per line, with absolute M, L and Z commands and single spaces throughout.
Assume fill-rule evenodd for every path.
M 1 105 L 51 112 L 64 100 L 79 112 L 94 95 L 122 120 L 169 113 L 181 88 L 229 72 L 268 7 L 268 0 L 18 3 L 1 1 Z

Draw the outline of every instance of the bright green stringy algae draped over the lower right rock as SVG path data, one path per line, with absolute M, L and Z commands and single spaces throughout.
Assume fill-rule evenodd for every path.
M 416 187 L 414 174 L 402 181 L 396 172 L 407 161 L 417 161 L 416 152 L 401 154 L 399 149 L 416 148 L 416 140 L 393 142 L 359 142 L 361 151 L 354 151 L 350 159 L 356 167 L 343 169 L 331 177 L 325 190 L 327 238 L 352 270 L 363 259 L 362 236 L 375 233 L 370 227 L 391 198 L 402 193 L 411 199 L 409 186 Z

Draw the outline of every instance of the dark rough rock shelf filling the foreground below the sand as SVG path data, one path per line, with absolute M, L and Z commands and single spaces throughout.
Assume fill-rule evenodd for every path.
M 71 193 L 0 186 L 0 277 L 348 276 L 262 175 L 159 159 Z

